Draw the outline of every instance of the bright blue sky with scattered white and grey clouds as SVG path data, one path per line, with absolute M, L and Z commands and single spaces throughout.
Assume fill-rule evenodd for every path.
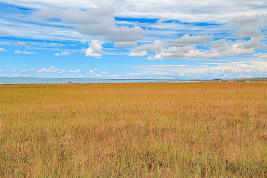
M 267 76 L 267 1 L 0 0 L 0 77 Z

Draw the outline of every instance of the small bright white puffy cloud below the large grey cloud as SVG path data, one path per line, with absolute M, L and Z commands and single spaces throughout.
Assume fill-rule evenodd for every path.
M 89 44 L 89 48 L 86 49 L 86 56 L 89 57 L 96 57 L 96 58 L 100 58 L 102 56 L 102 48 L 104 42 L 98 41 L 98 40 L 92 40 L 91 43 Z

